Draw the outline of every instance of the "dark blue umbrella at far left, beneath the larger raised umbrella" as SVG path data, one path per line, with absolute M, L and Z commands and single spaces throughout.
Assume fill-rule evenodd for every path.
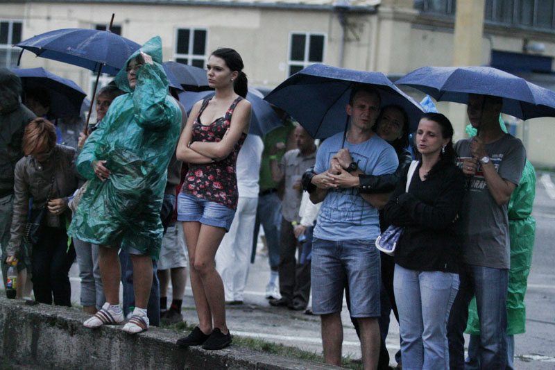
M 11 70 L 21 78 L 24 92 L 44 90 L 49 94 L 50 118 L 80 115 L 81 104 L 87 94 L 74 81 L 56 76 L 44 68 Z

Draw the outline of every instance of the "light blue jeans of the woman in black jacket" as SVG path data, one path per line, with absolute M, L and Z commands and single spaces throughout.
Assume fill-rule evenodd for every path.
M 458 274 L 395 264 L 403 369 L 449 369 L 447 320 L 458 287 Z

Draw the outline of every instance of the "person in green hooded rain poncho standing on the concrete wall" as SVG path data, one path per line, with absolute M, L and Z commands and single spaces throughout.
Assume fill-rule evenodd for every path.
M 153 37 L 135 51 L 115 82 L 128 94 L 114 99 L 78 157 L 79 174 L 92 180 L 68 233 L 100 245 L 106 303 L 85 321 L 89 328 L 123 321 L 119 307 L 120 246 L 130 253 L 135 311 L 123 330 L 134 334 L 148 328 L 152 259 L 157 260 L 162 245 L 160 208 L 167 167 L 180 134 L 181 110 L 168 94 L 160 37 Z

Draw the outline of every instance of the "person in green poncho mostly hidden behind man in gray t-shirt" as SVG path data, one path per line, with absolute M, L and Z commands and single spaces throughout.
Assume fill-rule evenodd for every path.
M 499 117 L 499 124 L 504 132 L 505 123 Z M 472 137 L 476 129 L 471 125 L 466 127 L 466 133 Z M 536 173 L 532 164 L 527 160 L 522 171 L 520 185 L 515 189 L 509 201 L 509 239 L 511 242 L 511 269 L 509 269 L 509 290 L 507 292 L 507 367 L 513 369 L 515 353 L 515 334 L 526 331 L 526 294 L 527 279 L 532 264 L 533 241 L 536 235 L 536 219 L 531 217 L 533 199 L 536 196 Z M 468 308 L 467 334 L 470 334 L 468 344 L 468 358 L 465 369 L 480 369 L 480 321 L 476 310 L 476 299 L 473 298 Z

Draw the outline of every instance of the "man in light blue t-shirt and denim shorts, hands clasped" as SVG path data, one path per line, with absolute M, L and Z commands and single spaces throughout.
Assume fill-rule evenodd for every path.
M 341 306 L 348 284 L 351 317 L 357 318 L 361 330 L 364 369 L 375 369 L 379 357 L 381 272 L 375 239 L 378 209 L 388 194 L 359 194 L 357 175 L 390 174 L 398 166 L 393 146 L 372 131 L 379 106 L 377 90 L 364 85 L 352 89 L 345 144 L 343 133 L 321 144 L 314 167 L 317 175 L 311 180 L 316 190 L 310 194 L 313 203 L 323 201 L 314 228 L 311 278 L 312 311 L 321 315 L 324 360 L 341 364 Z

